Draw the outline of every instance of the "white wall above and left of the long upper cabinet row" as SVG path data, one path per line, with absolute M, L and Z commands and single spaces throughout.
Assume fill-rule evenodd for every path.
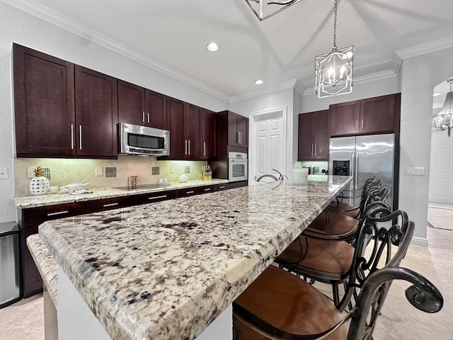
M 16 220 L 13 205 L 13 107 L 11 81 L 12 43 L 25 45 L 81 66 L 124 79 L 212 111 L 228 103 L 192 86 L 154 71 L 100 45 L 57 28 L 0 2 L 0 166 L 8 167 L 9 179 L 0 180 L 0 222 Z

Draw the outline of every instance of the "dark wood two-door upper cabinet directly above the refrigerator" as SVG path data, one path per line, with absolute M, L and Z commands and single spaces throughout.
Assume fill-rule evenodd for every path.
M 390 94 L 331 105 L 331 136 L 398 133 L 400 98 Z

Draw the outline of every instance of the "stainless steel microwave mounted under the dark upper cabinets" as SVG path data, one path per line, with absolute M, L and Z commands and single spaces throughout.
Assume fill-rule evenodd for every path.
M 147 126 L 118 123 L 120 154 L 142 156 L 168 156 L 170 154 L 170 131 Z

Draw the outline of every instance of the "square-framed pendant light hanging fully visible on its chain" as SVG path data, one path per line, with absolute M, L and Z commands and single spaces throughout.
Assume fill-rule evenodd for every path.
M 337 48 L 337 0 L 333 8 L 333 47 L 329 53 L 315 57 L 314 89 L 318 98 L 352 92 L 354 46 Z

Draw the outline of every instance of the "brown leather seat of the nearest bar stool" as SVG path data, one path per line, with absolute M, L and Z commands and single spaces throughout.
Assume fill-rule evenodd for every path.
M 235 300 L 256 317 L 293 334 L 318 334 L 334 327 L 342 315 L 333 302 L 304 280 L 269 266 Z M 268 340 L 243 322 L 235 321 L 234 340 Z M 343 340 L 348 327 L 340 327 L 326 339 Z

